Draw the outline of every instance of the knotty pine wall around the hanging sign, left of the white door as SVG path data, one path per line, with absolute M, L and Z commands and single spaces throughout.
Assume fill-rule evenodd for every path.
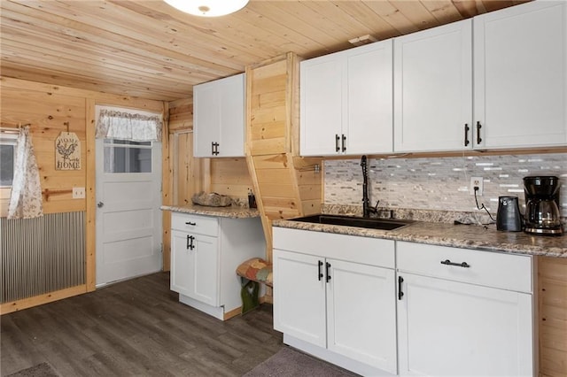
M 115 96 L 89 90 L 66 88 L 35 81 L 0 77 L 2 97 L 0 123 L 2 127 L 31 124 L 30 134 L 40 171 L 43 212 L 86 212 L 86 284 L 83 287 L 29 297 L 11 307 L 44 304 L 66 296 L 74 296 L 95 289 L 95 106 L 105 104 L 162 112 L 160 101 Z M 81 170 L 55 170 L 55 138 L 60 132 L 74 132 L 81 141 Z M 167 127 L 164 127 L 167 129 Z M 164 142 L 167 148 L 167 142 Z M 73 199 L 74 187 L 86 188 L 85 199 Z M 3 215 L 5 216 L 5 214 Z M 4 313 L 4 306 L 2 308 Z

